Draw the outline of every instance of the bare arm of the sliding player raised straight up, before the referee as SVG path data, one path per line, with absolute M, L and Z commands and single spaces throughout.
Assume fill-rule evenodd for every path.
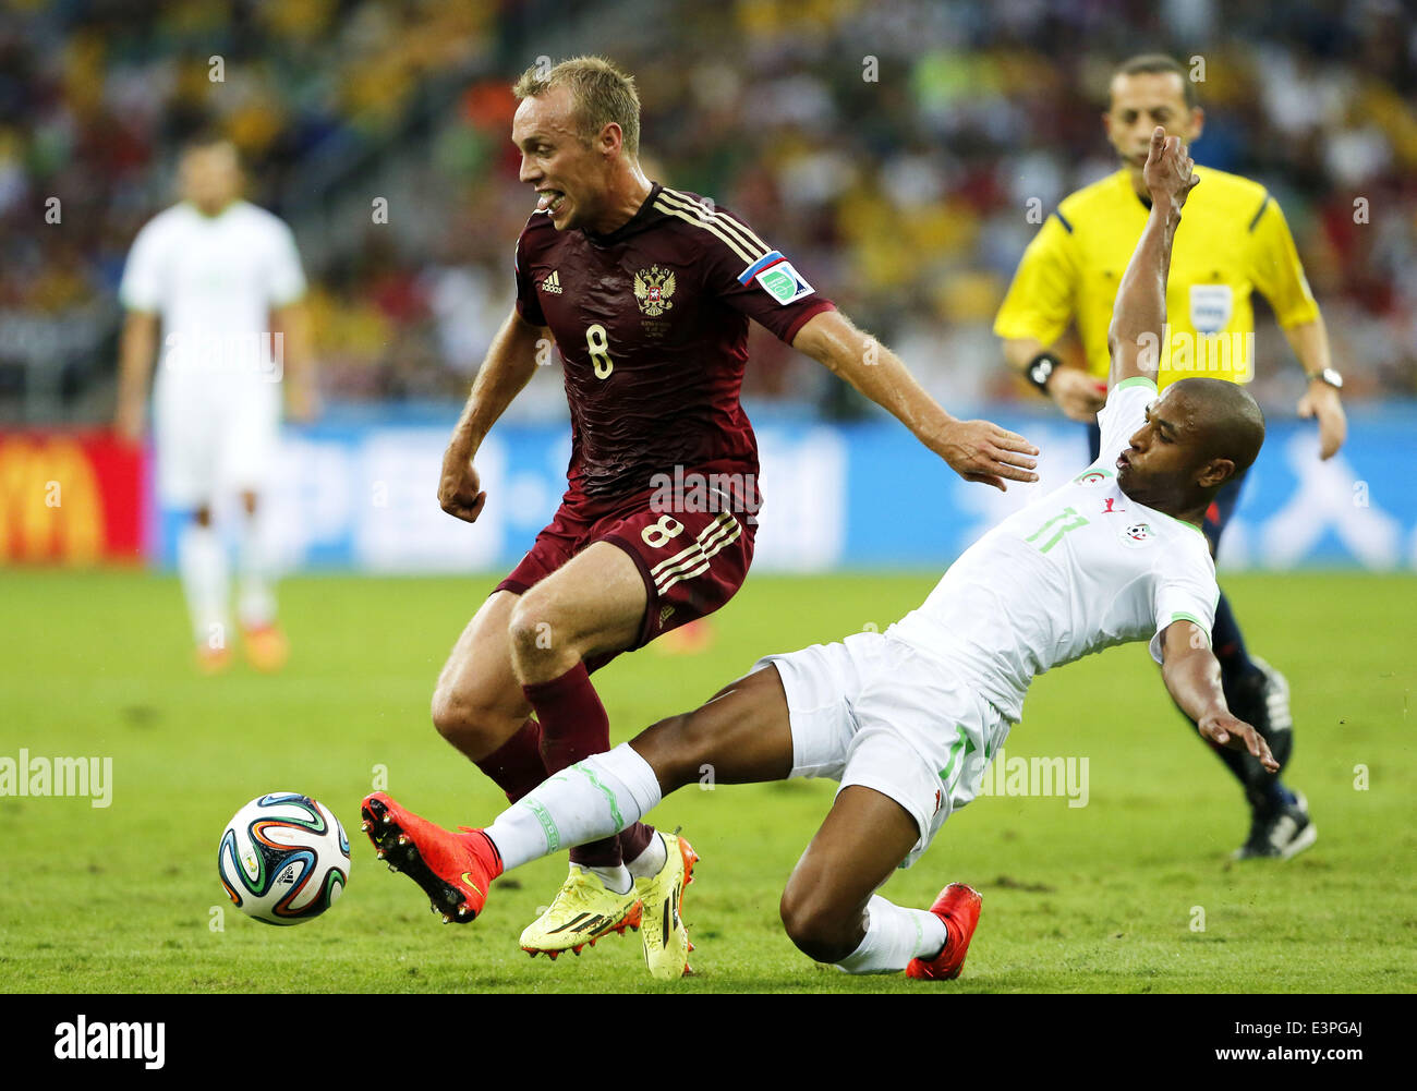
M 1170 272 L 1170 244 L 1180 224 L 1180 207 L 1200 179 L 1192 174 L 1195 162 L 1180 139 L 1168 137 L 1161 126 L 1152 133 L 1151 152 L 1142 177 L 1151 190 L 1152 210 L 1146 227 L 1127 264 L 1112 307 L 1107 349 L 1112 357 L 1108 387 L 1136 378 L 1155 378 L 1161 361 L 1161 339 L 1166 324 L 1166 276 Z

